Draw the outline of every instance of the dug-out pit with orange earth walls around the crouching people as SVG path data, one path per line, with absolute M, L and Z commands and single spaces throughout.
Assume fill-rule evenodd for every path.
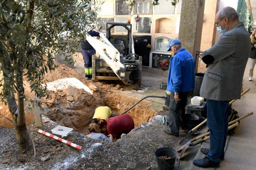
M 63 83 L 63 82 L 62 82 Z M 101 84 L 98 84 L 98 86 Z M 97 88 L 97 85 L 94 86 Z M 88 125 L 94 115 L 95 108 L 108 106 L 112 113 L 120 114 L 130 108 L 139 99 L 124 94 L 113 93 L 111 90 L 85 91 L 84 89 L 68 86 L 67 88 L 56 88 L 52 91 L 52 100 L 58 99 L 59 105 L 53 106 L 47 116 L 62 126 L 73 128 L 74 131 L 88 134 Z M 135 127 L 143 122 L 151 121 L 157 111 L 151 107 L 148 101 L 141 101 L 126 114 L 131 115 Z

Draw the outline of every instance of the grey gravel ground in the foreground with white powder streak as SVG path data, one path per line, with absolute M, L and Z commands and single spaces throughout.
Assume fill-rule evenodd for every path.
M 161 124 L 161 119 L 162 115 L 155 116 L 152 122 L 143 123 L 115 143 L 93 140 L 79 132 L 71 132 L 64 139 L 82 146 L 81 151 L 39 134 L 32 124 L 28 126 L 28 130 L 35 142 L 36 158 L 34 151 L 20 154 L 13 129 L 0 128 L 0 169 L 157 169 L 154 151 L 161 147 L 177 149 L 179 141 L 184 137 L 166 135 L 163 130 L 167 126 Z M 47 122 L 42 127 L 46 132 L 50 132 L 50 129 L 58 125 L 45 116 L 43 121 Z M 48 161 L 41 161 L 42 157 L 48 155 L 50 156 Z M 176 160 L 177 167 L 178 164 L 179 161 Z

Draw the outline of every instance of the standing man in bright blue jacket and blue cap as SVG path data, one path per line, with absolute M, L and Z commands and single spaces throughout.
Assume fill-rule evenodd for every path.
M 164 132 L 179 136 L 180 121 L 185 116 L 187 95 L 195 87 L 195 60 L 185 48 L 182 48 L 181 41 L 177 39 L 169 42 L 167 51 L 171 51 L 173 57 L 171 57 L 167 79 L 167 91 L 171 92 L 169 128 Z

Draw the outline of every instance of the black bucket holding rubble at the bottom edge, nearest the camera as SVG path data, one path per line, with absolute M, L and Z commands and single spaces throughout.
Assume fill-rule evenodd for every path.
M 154 152 L 155 160 L 159 170 L 173 170 L 177 156 L 177 151 L 174 148 L 159 148 Z M 161 156 L 171 157 L 169 159 L 161 158 Z

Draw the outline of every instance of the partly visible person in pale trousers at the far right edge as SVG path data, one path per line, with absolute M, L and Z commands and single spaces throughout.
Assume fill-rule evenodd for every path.
M 256 30 L 253 31 L 251 38 L 251 54 L 249 55 L 248 65 L 249 65 L 249 81 L 253 80 L 253 69 L 256 63 Z

